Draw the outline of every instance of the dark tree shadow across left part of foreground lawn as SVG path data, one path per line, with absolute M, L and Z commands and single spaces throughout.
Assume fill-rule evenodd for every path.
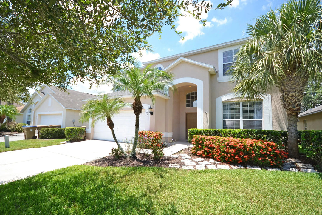
M 0 201 L 7 202 L 0 214 L 156 214 L 156 188 L 147 184 L 146 189 L 136 189 L 139 181 L 126 179 L 141 171 L 71 167 L 14 181 L 0 187 Z M 165 173 L 163 168 L 154 172 L 158 177 Z M 171 204 L 158 207 L 158 213 L 180 211 Z

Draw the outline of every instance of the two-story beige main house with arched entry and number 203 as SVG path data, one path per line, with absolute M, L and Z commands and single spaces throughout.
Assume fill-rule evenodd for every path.
M 143 63 L 174 73 L 177 92 L 155 92 L 156 102 L 143 98 L 140 130 L 162 132 L 166 141 L 186 140 L 189 128 L 232 128 L 286 130 L 287 116 L 279 100 L 279 91 L 273 89 L 260 100 L 246 102 L 232 92 L 228 68 L 234 54 L 247 38 L 213 45 L 182 54 L 176 54 Z M 142 67 L 142 69 L 145 68 Z M 127 92 L 113 92 L 133 102 Z M 153 115 L 148 108 L 152 107 Z M 135 117 L 131 108 L 114 117 L 118 140 L 134 136 Z M 88 129 L 87 137 L 113 140 L 106 122 Z

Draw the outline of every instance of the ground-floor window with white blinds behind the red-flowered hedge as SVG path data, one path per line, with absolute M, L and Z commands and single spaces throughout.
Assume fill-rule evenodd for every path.
M 262 129 L 263 103 L 223 102 L 224 129 Z

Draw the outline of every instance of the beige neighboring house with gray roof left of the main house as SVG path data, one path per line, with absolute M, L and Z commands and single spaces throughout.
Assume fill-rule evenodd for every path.
M 29 125 L 61 125 L 65 127 L 79 127 L 82 100 L 93 97 L 89 93 L 68 90 L 61 92 L 54 86 L 43 85 L 31 96 L 30 103 L 22 109 L 23 122 Z

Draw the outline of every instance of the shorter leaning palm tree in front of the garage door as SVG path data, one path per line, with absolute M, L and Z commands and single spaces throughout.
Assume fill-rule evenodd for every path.
M 83 105 L 82 108 L 84 109 L 84 111 L 82 111 L 80 114 L 80 121 L 83 123 L 94 119 L 92 122 L 93 126 L 98 121 L 106 121 L 109 129 L 112 132 L 114 141 L 118 145 L 118 148 L 125 156 L 128 156 L 115 137 L 112 117 L 113 115 L 117 114 L 122 108 L 129 105 L 129 103 L 124 103 L 123 100 L 119 97 L 110 98 L 107 94 L 104 94 L 99 96 L 98 99 L 91 99 Z

